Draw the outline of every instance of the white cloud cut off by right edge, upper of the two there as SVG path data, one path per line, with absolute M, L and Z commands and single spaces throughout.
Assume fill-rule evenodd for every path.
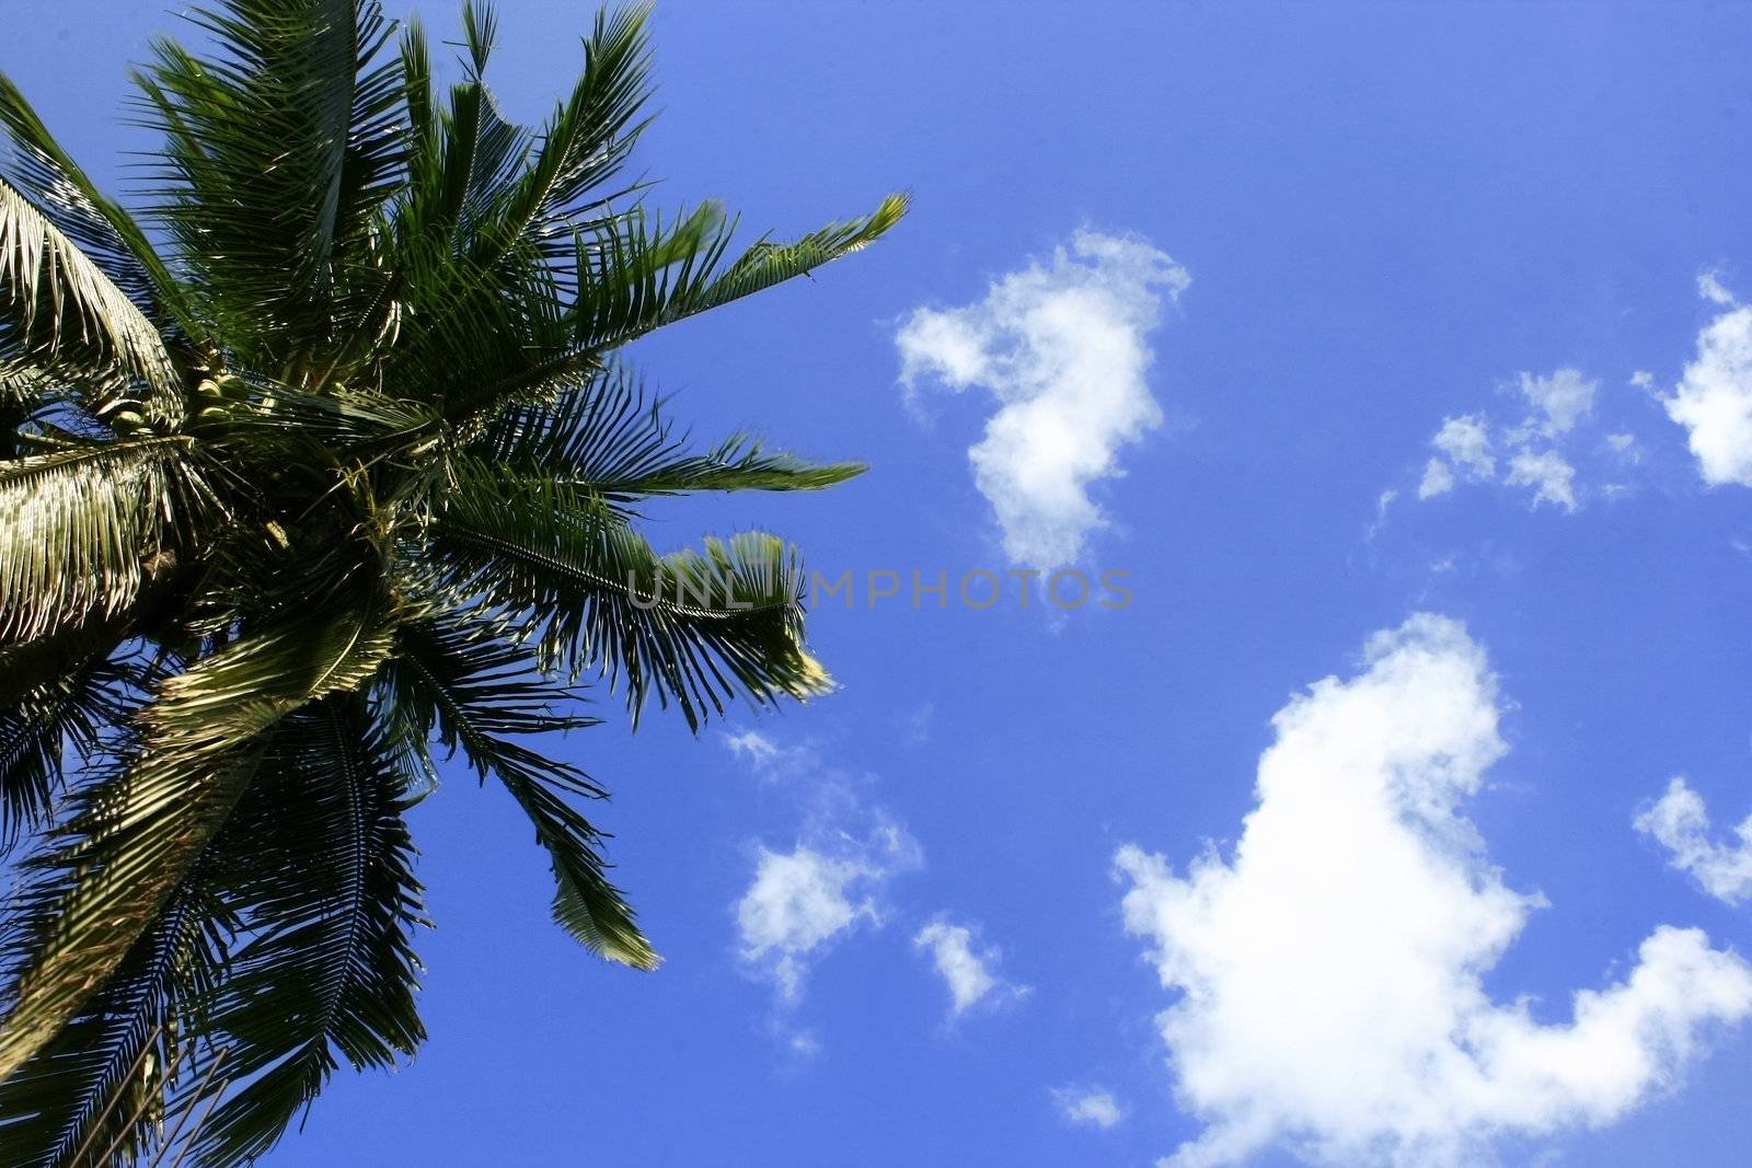
M 1691 431 L 1703 482 L 1752 487 L 1752 305 L 1724 312 L 1698 333 L 1698 359 L 1663 405 Z

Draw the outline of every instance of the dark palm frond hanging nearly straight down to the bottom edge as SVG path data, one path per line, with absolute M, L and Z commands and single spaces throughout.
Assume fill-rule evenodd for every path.
M 413 1007 L 424 923 L 406 779 L 361 695 L 287 716 L 261 770 L 215 841 L 247 853 L 223 881 L 247 937 L 207 1002 L 208 1042 L 240 1084 L 201 1128 L 198 1163 L 249 1163 L 342 1063 L 364 1070 L 412 1056 L 426 1030 Z

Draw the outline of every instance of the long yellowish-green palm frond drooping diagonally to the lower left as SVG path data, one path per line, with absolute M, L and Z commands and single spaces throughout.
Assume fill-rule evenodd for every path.
M 391 648 L 382 602 L 331 597 L 159 686 L 138 714 L 138 748 L 81 792 L 58 839 L 30 862 L 16 909 L 25 925 L 7 944 L 0 1080 L 77 1016 L 152 926 L 249 788 L 265 732 L 359 688 Z

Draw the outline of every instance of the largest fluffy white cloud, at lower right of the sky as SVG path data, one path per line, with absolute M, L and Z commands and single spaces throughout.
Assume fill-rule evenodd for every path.
M 1452 620 L 1375 634 L 1358 676 L 1274 718 L 1233 856 L 1184 877 L 1135 846 L 1127 928 L 1151 942 L 1177 1094 L 1205 1121 L 1174 1168 L 1268 1145 L 1333 1164 L 1489 1163 L 1501 1135 L 1605 1124 L 1673 1086 L 1708 1023 L 1752 1014 L 1752 967 L 1661 926 L 1572 1021 L 1482 979 L 1544 904 L 1459 813 L 1505 751 L 1496 681 Z

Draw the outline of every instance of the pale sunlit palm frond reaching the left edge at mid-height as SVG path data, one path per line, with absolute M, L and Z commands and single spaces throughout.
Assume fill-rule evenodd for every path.
M 187 438 L 0 462 L 0 643 L 126 611 L 219 501 Z

